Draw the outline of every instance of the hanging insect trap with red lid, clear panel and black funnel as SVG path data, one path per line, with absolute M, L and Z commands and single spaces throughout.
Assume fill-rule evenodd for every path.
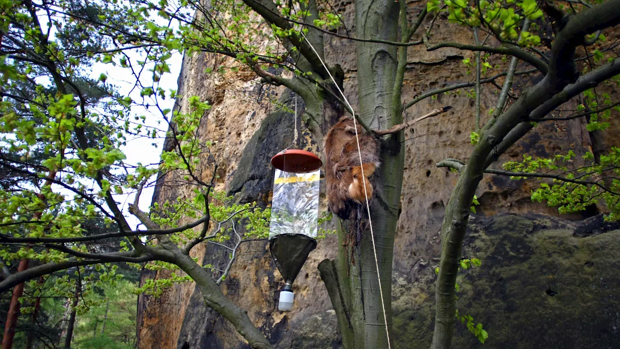
M 272 158 L 273 179 L 269 250 L 285 281 L 280 311 L 293 309 L 293 281 L 316 248 L 319 177 L 322 162 L 305 150 L 283 150 Z

